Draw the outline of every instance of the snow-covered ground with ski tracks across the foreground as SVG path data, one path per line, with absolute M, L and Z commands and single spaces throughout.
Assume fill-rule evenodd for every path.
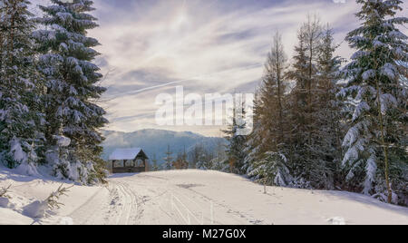
M 74 186 L 44 219 L 23 216 L 61 183 L 0 168 L 0 188 L 12 184 L 0 224 L 408 224 L 407 208 L 363 195 L 274 187 L 264 194 L 242 177 L 201 170 L 114 175 L 105 187 Z

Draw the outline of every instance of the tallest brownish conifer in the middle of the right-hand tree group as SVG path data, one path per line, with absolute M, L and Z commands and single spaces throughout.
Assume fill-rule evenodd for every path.
M 295 94 L 295 110 L 294 117 L 299 115 L 299 119 L 294 123 L 294 131 L 296 131 L 295 147 L 292 158 L 294 165 L 294 173 L 299 180 L 309 181 L 314 175 L 316 167 L 315 154 L 316 136 L 320 131 L 318 122 L 318 99 L 321 93 L 317 92 L 318 85 L 318 70 L 317 59 L 320 53 L 320 44 L 322 40 L 322 25 L 317 16 L 307 16 L 307 21 L 299 30 L 299 47 L 298 57 L 303 59 L 296 60 L 300 63 L 297 69 L 296 63 L 293 72 L 296 75 L 301 75 L 296 80 Z M 296 58 L 295 58 L 296 59 Z M 306 63 L 304 63 L 306 61 Z M 293 72 L 290 76 L 294 76 Z M 297 97 L 296 97 L 297 96 Z M 295 121 L 296 121 L 295 120 Z M 297 127 L 297 128 L 296 128 Z M 318 179 L 317 179 L 318 180 Z

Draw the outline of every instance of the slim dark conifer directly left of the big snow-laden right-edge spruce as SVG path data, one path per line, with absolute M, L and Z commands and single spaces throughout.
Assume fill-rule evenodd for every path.
M 336 46 L 333 31 L 327 27 L 322 34 L 316 59 L 316 86 L 312 146 L 308 148 L 312 156 L 310 178 L 317 189 L 334 190 L 341 180 L 338 176 L 339 161 L 342 160 L 341 102 L 336 99 L 340 87 L 340 66 L 342 59 L 335 56 Z

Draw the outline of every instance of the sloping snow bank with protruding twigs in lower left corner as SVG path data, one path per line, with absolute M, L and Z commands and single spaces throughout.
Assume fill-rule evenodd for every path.
M 66 215 L 79 208 L 95 191 L 102 189 L 74 186 L 67 192 L 67 197 L 60 197 L 64 204 L 61 209 L 50 210 L 45 199 L 62 184 L 68 188 L 73 182 L 56 180 L 47 175 L 47 171 L 40 168 L 38 174 L 28 176 L 0 166 L 0 188 L 11 185 L 7 193 L 10 199 L 0 198 L 0 224 L 73 224 L 73 220 L 66 218 Z

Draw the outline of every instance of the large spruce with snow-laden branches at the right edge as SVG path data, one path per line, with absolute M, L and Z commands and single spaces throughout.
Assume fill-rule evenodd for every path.
M 357 3 L 362 5 L 356 14 L 362 24 L 346 37 L 357 51 L 345 67 L 348 84 L 340 93 L 355 107 L 343 144 L 347 186 L 389 203 L 403 203 L 408 183 L 408 92 L 406 76 L 402 77 L 408 48 L 407 36 L 396 25 L 406 24 L 408 18 L 395 17 L 403 10 L 399 0 Z

